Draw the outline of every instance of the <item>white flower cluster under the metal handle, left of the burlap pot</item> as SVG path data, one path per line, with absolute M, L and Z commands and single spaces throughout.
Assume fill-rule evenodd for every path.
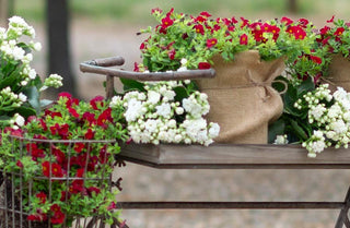
M 122 98 L 112 99 L 112 108 L 125 107 L 133 142 L 209 145 L 219 135 L 219 124 L 208 124 L 203 119 L 210 109 L 207 95 L 194 92 L 182 103 L 176 101 L 174 88 L 178 86 L 183 82 L 147 83 L 145 92 L 129 92 Z

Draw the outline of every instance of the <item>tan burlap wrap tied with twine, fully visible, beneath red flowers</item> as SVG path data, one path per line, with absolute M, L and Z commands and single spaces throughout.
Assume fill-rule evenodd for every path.
M 217 76 L 197 81 L 201 92 L 208 94 L 208 121 L 218 122 L 218 143 L 266 144 L 268 123 L 283 111 L 280 95 L 271 82 L 284 70 L 284 59 L 261 61 L 258 51 L 235 55 L 225 62 L 213 58 Z

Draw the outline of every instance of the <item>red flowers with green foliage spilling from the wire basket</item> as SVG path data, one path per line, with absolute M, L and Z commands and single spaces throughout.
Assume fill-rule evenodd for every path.
M 69 227 L 79 217 L 118 218 L 109 178 L 116 140 L 127 137 L 122 120 L 122 107 L 101 96 L 85 103 L 61 93 L 38 117 L 5 128 L 1 169 L 20 173 L 12 182 L 27 220 Z

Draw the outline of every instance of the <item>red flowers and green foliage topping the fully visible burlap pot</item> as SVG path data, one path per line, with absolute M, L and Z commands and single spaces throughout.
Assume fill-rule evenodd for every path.
M 233 60 L 235 53 L 245 50 L 258 50 L 264 60 L 285 56 L 293 62 L 311 53 L 316 38 L 305 19 L 252 22 L 244 17 L 212 19 L 208 12 L 192 16 L 174 9 L 167 13 L 153 9 L 152 15 L 160 24 L 141 29 L 140 34 L 149 37 L 140 46 L 143 64 L 137 65 L 151 72 L 177 70 L 182 59 L 187 60 L 187 69 L 207 69 L 214 55 Z

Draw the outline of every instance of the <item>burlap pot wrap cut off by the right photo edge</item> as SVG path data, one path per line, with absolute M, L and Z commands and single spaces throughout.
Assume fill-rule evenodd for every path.
M 328 83 L 331 91 L 340 86 L 350 92 L 350 58 L 342 55 L 332 56 L 324 83 Z

